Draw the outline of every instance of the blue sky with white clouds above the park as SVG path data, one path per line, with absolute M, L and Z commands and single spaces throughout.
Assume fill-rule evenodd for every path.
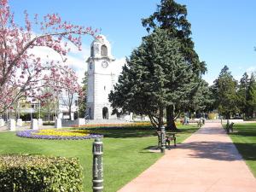
M 23 11 L 29 15 L 58 13 L 63 20 L 101 29 L 112 44 L 112 55 L 123 62 L 147 35 L 141 24 L 156 10 L 160 0 L 9 0 L 15 21 L 22 25 Z M 235 79 L 256 71 L 255 0 L 177 0 L 187 6 L 195 51 L 207 63 L 203 77 L 209 84 L 227 65 Z M 73 51 L 70 64 L 80 79 L 87 69 L 91 37 L 83 38 L 82 52 Z M 38 50 L 38 52 L 40 52 Z M 47 51 L 43 51 L 45 52 Z

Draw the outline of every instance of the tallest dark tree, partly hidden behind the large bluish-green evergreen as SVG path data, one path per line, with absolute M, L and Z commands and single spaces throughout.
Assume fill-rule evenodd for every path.
M 185 61 L 191 66 L 191 69 L 197 77 L 198 83 L 201 82 L 201 75 L 207 72 L 207 66 L 204 61 L 199 60 L 199 56 L 194 49 L 194 42 L 191 39 L 191 24 L 187 20 L 187 9 L 185 5 L 176 3 L 174 0 L 161 0 L 157 5 L 157 10 L 148 18 L 142 20 L 143 26 L 147 31 L 154 31 L 160 27 L 168 32 L 169 38 L 177 38 L 180 51 L 183 53 Z M 196 79 L 195 79 L 196 81 Z M 183 105 L 170 105 L 166 108 L 167 127 L 175 129 L 172 116 L 177 116 L 183 110 L 184 106 L 188 106 L 193 95 L 183 101 Z

